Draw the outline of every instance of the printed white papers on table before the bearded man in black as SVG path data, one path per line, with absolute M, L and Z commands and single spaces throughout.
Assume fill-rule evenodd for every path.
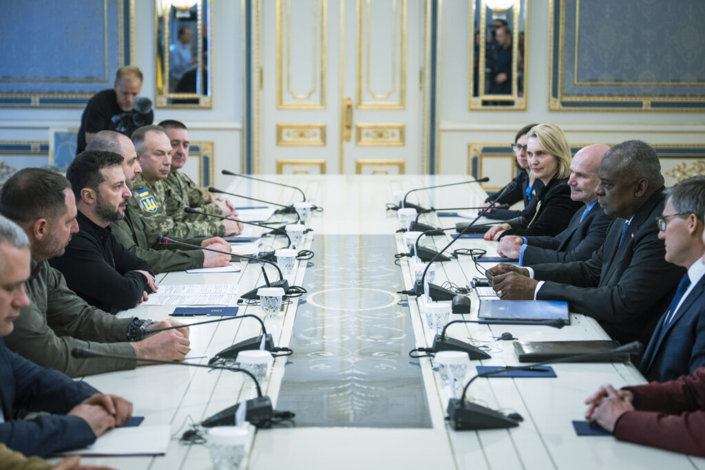
M 160 285 L 142 305 L 230 305 L 234 295 L 231 284 Z

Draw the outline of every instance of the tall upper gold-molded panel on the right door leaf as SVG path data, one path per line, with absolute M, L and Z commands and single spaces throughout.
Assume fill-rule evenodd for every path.
M 386 30 L 372 27 L 374 8 L 391 4 L 391 24 L 387 26 L 392 32 L 391 50 L 388 51 L 387 65 L 391 69 L 373 66 L 372 50 L 380 47 L 374 42 L 374 32 L 386 34 Z M 379 18 L 382 14 L 376 16 Z M 357 0 L 357 109 L 406 109 L 406 47 L 407 47 L 407 9 L 406 0 Z M 386 29 L 387 29 L 386 28 Z M 377 50 L 377 49 L 374 49 Z M 372 70 L 374 68 L 374 70 Z M 373 73 L 374 71 L 374 73 Z M 372 83 L 372 76 L 388 77 L 389 86 Z

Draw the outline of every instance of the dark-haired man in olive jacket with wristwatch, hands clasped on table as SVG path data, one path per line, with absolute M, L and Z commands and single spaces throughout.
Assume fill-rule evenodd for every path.
M 0 214 L 25 230 L 32 252 L 30 278 L 25 282 L 32 304 L 22 307 L 13 332 L 5 338 L 11 350 L 72 377 L 134 369 L 136 357 L 166 361 L 185 357 L 188 328 L 148 335 L 138 341 L 141 328 L 180 323 L 171 319 L 154 324 L 135 317 L 117 319 L 75 295 L 66 287 L 61 273 L 49 266 L 47 260 L 63 254 L 71 235 L 78 232 L 75 199 L 66 178 L 42 168 L 18 171 L 2 188 Z M 74 347 L 135 359 L 76 359 L 70 354 Z

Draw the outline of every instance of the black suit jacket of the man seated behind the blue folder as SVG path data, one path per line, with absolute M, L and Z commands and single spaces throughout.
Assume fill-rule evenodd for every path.
M 545 280 L 537 299 L 565 300 L 570 311 L 598 320 L 615 340 L 646 344 L 668 308 L 685 269 L 668 263 L 654 219 L 663 210 L 663 187 L 646 199 L 619 245 L 625 220 L 615 218 L 603 245 L 587 261 L 538 264 Z

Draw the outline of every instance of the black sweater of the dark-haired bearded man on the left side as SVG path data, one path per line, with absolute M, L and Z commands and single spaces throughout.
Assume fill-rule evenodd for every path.
M 49 264 L 66 278 L 68 287 L 86 302 L 115 313 L 137 305 L 142 292 L 151 292 L 147 278 L 136 270 L 152 273 L 152 267 L 120 244 L 110 227 L 94 224 L 81 212 L 79 232 L 73 235 L 62 256 Z

